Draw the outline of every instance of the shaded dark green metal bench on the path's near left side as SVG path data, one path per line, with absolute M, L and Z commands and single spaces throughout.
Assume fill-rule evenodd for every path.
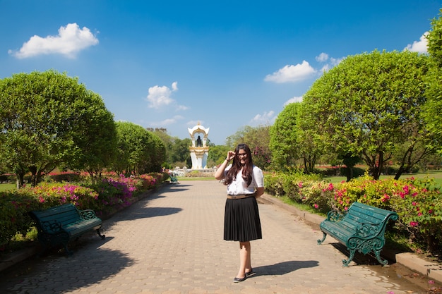
M 100 238 L 105 236 L 100 233 L 102 220 L 95 216 L 91 209 L 78 210 L 73 204 L 63 204 L 45 210 L 30 212 L 37 226 L 37 237 L 44 249 L 63 245 L 66 253 L 68 243 L 75 240 L 88 231 L 95 230 Z

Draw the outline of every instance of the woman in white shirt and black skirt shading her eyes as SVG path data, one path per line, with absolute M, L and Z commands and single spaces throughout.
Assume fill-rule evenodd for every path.
M 264 193 L 263 171 L 253 165 L 249 146 L 239 144 L 227 152 L 215 178 L 227 185 L 224 240 L 239 241 L 239 271 L 233 280 L 238 283 L 253 274 L 250 241 L 262 238 L 256 198 Z

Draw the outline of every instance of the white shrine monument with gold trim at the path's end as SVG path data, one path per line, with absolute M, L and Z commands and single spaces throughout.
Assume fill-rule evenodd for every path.
M 209 128 L 203 125 L 195 125 L 193 128 L 187 128 L 191 135 L 192 146 L 189 147 L 192 159 L 192 169 L 207 169 L 207 157 L 209 147 L 206 146 Z

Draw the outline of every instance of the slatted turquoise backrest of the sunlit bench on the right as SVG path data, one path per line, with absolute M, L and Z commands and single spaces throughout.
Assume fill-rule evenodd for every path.
M 386 209 L 371 207 L 366 204 L 354 202 L 347 210 L 347 214 L 341 221 L 341 225 L 347 226 L 350 231 L 357 231 L 360 224 L 367 223 L 373 225 L 371 233 L 374 235 L 382 233 L 386 229 L 388 219 L 398 219 L 398 214 Z

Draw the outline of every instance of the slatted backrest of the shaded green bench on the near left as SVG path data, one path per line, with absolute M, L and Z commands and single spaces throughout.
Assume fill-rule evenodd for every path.
M 40 223 L 56 219 L 56 221 L 59 221 L 62 226 L 80 220 L 80 213 L 73 204 L 63 204 L 45 210 L 33 211 L 31 214 L 33 214 L 35 220 L 40 221 Z

